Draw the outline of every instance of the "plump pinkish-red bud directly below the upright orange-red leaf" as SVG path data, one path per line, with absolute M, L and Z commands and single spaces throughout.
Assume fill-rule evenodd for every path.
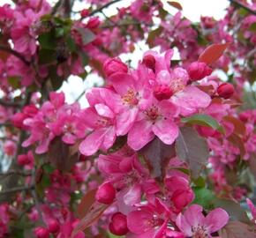
M 192 81 L 200 80 L 212 73 L 212 69 L 204 62 L 191 63 L 187 71 Z

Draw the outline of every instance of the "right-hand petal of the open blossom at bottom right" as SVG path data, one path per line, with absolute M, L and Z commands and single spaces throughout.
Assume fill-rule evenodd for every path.
M 208 233 L 214 233 L 224 227 L 230 219 L 229 214 L 222 208 L 215 208 L 215 210 L 209 212 L 204 221 L 205 226 L 208 229 Z

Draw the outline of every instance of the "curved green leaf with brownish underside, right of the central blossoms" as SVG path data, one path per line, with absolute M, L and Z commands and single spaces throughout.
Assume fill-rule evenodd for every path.
M 207 127 L 211 127 L 220 132 L 224 132 L 222 126 L 210 115 L 205 114 L 195 114 L 189 117 L 184 117 L 181 119 L 182 123 L 203 125 Z

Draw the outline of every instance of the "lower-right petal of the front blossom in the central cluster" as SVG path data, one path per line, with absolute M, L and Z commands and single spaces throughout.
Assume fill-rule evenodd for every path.
M 173 123 L 169 119 L 162 119 L 156 122 L 152 130 L 155 136 L 160 138 L 164 144 L 171 145 L 178 136 L 178 127 L 176 123 Z

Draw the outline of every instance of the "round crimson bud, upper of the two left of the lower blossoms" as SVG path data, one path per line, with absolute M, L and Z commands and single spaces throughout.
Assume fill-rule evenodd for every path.
M 95 198 L 99 203 L 110 205 L 116 198 L 116 190 L 110 182 L 105 182 L 97 190 Z

